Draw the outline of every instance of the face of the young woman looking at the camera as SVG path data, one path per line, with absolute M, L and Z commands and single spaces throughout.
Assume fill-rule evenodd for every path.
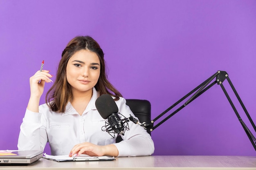
M 72 92 L 87 92 L 94 87 L 100 75 L 100 60 L 96 53 L 80 50 L 67 62 L 67 82 Z

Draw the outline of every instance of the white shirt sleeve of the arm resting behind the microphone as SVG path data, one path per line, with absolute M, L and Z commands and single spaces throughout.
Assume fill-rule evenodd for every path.
M 119 113 L 125 117 L 130 117 L 130 114 L 135 117 L 129 106 L 126 105 L 126 100 L 124 98 L 120 97 L 119 101 L 117 101 L 117 106 L 119 108 Z M 114 144 L 119 152 L 118 157 L 152 155 L 155 147 L 148 132 L 143 127 L 134 124 L 131 121 L 128 122 L 128 125 L 130 130 L 126 130 L 124 136 L 121 135 L 124 140 Z

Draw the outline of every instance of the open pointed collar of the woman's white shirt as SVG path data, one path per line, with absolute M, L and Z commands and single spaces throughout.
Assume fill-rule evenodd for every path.
M 96 89 L 93 87 L 92 88 L 92 98 L 90 99 L 90 102 L 88 103 L 87 107 L 85 108 L 83 114 L 87 113 L 90 110 L 97 110 L 97 108 L 95 106 L 95 102 L 96 102 L 96 99 L 98 97 L 99 97 L 99 94 L 96 91 Z M 78 113 L 73 108 L 73 106 L 72 106 L 72 104 L 70 102 L 67 103 L 65 113 L 61 113 L 62 116 L 65 116 L 65 115 L 75 115 L 75 114 L 78 114 Z

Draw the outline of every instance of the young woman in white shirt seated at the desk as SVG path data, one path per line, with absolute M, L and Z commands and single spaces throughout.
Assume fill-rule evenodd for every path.
M 30 77 L 31 95 L 18 139 L 19 150 L 43 150 L 47 142 L 52 155 L 146 156 L 154 152 L 154 143 L 144 128 L 129 122 L 130 130 L 115 143 L 102 131 L 103 119 L 96 99 L 109 94 L 125 117 L 132 116 L 126 100 L 107 79 L 104 53 L 89 36 L 72 39 L 64 49 L 56 81 L 47 92 L 46 104 L 39 106 L 45 82 L 52 82 L 49 71 L 37 71 Z

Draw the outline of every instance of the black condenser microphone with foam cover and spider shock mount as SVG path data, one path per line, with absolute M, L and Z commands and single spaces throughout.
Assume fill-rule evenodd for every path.
M 119 116 L 120 113 L 118 112 L 117 104 L 110 95 L 101 95 L 97 98 L 95 105 L 101 117 L 103 119 L 108 119 L 108 121 L 105 122 L 105 126 L 103 126 L 101 130 L 106 131 L 109 134 L 113 133 L 114 136 L 110 134 L 112 137 L 115 137 L 115 133 L 119 135 L 124 135 L 124 132 L 126 130 L 129 130 L 127 124 L 129 119 L 126 117 L 124 117 L 124 119 L 121 119 L 121 117 Z

